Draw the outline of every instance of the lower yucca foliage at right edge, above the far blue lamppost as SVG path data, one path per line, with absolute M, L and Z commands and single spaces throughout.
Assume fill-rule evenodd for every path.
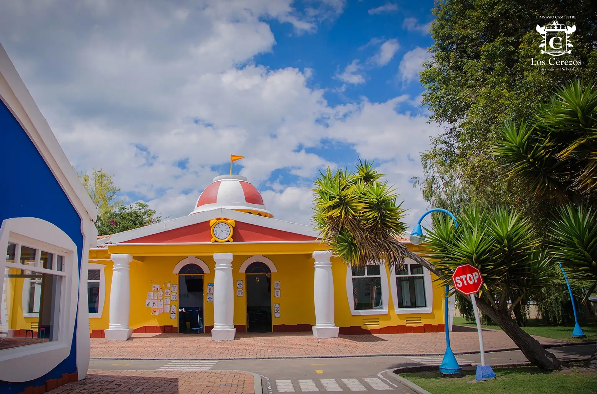
M 597 287 L 597 217 L 586 206 L 568 204 L 559 209 L 552 221 L 550 255 L 567 269 L 573 278 L 591 281 L 585 299 Z M 597 368 L 597 346 L 589 360 Z

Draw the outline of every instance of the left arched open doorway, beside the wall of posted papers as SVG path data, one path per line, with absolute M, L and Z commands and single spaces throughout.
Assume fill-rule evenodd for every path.
M 184 272 L 184 273 L 183 273 Z M 179 333 L 198 334 L 203 326 L 203 269 L 187 264 L 179 273 Z

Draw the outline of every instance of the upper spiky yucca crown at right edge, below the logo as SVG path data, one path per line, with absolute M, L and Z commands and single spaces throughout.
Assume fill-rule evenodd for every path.
M 494 152 L 527 191 L 557 204 L 595 203 L 597 86 L 574 80 L 556 89 L 532 123 L 506 122 Z

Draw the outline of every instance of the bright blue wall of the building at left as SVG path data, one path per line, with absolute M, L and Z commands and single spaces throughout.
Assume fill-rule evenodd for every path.
M 83 235 L 81 218 L 70 203 L 66 193 L 54 178 L 33 142 L 21 128 L 13 114 L 0 101 L 0 223 L 8 218 L 33 217 L 44 219 L 61 228 L 75 242 L 78 249 L 79 269 Z M 1 252 L 0 253 L 4 253 Z M 75 294 L 77 296 L 77 294 Z M 64 311 L 61 311 L 64 313 Z M 54 370 L 39 379 L 8 383 L 0 381 L 0 393 L 16 394 L 27 386 L 41 386 L 48 379 L 58 379 L 64 373 L 76 371 L 76 327 L 70 355 Z

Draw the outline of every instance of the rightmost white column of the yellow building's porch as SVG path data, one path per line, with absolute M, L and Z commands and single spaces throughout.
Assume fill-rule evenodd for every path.
M 315 327 L 318 338 L 336 338 L 340 328 L 334 325 L 334 278 L 332 277 L 331 250 L 316 250 L 315 259 Z

